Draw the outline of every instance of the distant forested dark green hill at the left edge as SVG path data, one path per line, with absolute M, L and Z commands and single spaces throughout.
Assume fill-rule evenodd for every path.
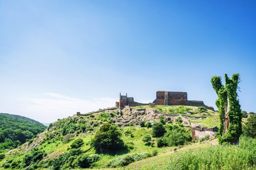
M 0 153 L 20 146 L 45 129 L 46 126 L 36 120 L 0 113 Z

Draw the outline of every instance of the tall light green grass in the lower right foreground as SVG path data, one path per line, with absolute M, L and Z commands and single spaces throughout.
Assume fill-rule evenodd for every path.
M 161 170 L 254 170 L 256 140 L 244 138 L 240 147 L 219 145 L 207 149 L 177 153 Z

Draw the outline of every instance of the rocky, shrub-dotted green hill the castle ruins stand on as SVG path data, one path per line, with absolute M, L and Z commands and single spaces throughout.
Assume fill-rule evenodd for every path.
M 0 165 L 4 168 L 52 167 L 54 169 L 59 158 L 64 159 L 65 157 L 64 164 L 58 166 L 61 166 L 60 168 L 75 168 L 76 165 L 72 165 L 72 160 L 78 161 L 78 155 L 82 154 L 89 155 L 90 159 L 93 159 L 88 168 L 122 167 L 134 161 L 177 150 L 179 145 L 192 144 L 196 141 L 192 141 L 193 126 L 207 128 L 218 125 L 217 112 L 195 106 L 144 105 L 127 107 L 121 113 L 118 108 L 109 108 L 78 115 L 51 123 L 37 137 L 6 153 L 5 158 L 0 161 Z M 159 137 L 154 137 L 151 134 L 152 125 L 159 121 L 165 124 L 167 134 L 172 135 L 172 131 L 177 129 L 178 131 L 175 131 L 181 133 L 181 136 L 184 134 L 187 137 L 184 136 L 181 143 L 170 144 L 167 142 L 162 143 L 165 147 L 158 146 Z M 144 125 L 141 122 L 144 122 Z M 118 131 L 122 135 L 121 139 L 124 141 L 125 149 L 114 153 L 97 153 L 90 145 L 99 127 L 104 123 L 119 127 Z M 148 135 L 151 139 L 145 142 L 143 138 Z M 209 136 L 207 137 L 209 138 Z M 82 140 L 82 145 L 79 151 L 73 151 L 71 146 L 78 139 Z M 35 154 L 40 155 L 38 160 L 27 160 L 30 156 L 35 157 Z M 132 157 L 132 159 L 126 162 L 128 157 Z

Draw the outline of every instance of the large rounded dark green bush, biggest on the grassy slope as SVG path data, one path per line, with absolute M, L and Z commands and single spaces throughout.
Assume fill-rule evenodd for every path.
M 117 126 L 103 124 L 92 140 L 91 145 L 99 152 L 113 152 L 123 148 L 124 143 Z

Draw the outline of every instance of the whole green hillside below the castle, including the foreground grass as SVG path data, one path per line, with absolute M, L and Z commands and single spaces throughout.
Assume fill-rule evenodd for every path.
M 214 166 L 219 164 L 219 169 L 231 170 L 225 168 L 228 162 L 218 158 L 217 155 L 225 158 L 225 154 L 230 154 L 228 159 L 232 161 L 232 156 L 234 157 L 239 152 L 243 156 L 235 157 L 236 161 L 241 164 L 241 166 L 237 166 L 238 168 L 253 169 L 256 165 L 254 162 L 256 141 L 254 139 L 242 138 L 241 147 L 238 150 L 233 146 L 219 146 L 214 147 L 215 150 L 211 150 L 213 148 L 211 145 L 217 145 L 217 139 L 210 139 L 207 142 L 203 142 L 204 140 L 192 141 L 192 127 L 177 119 L 184 117 L 204 127 L 210 127 L 218 124 L 217 113 L 214 111 L 203 110 L 201 112 L 202 108 L 193 106 L 138 106 L 128 111 L 123 110 L 122 115 L 119 115 L 118 109 L 112 109 L 88 116 L 59 119 L 51 123 L 47 130 L 37 137 L 12 152 L 5 153 L 0 159 L 0 169 L 168 170 L 168 166 L 173 166 L 173 162 L 179 160 L 187 169 L 196 170 L 204 169 L 203 166 L 207 164 L 207 162 L 203 162 L 201 165 L 200 161 L 197 161 L 200 159 L 198 156 L 204 154 L 210 162 L 217 158 L 212 162 L 215 163 Z M 160 118 L 152 116 L 151 113 L 159 114 Z M 172 117 L 169 117 L 168 114 Z M 129 117 L 131 119 L 128 119 Z M 137 125 L 137 120 L 140 120 L 140 125 Z M 145 122 L 141 123 L 144 120 Z M 154 136 L 153 132 L 159 132 L 159 127 L 157 129 L 154 125 L 152 127 L 154 123 L 159 124 L 156 122 L 163 123 L 165 132 L 162 137 Z M 109 131 L 106 129 L 102 131 L 102 125 L 106 123 L 112 124 L 113 128 Z M 114 126 L 117 127 L 116 132 Z M 107 137 L 114 136 L 114 138 L 115 134 L 120 133 L 123 148 L 114 147 L 111 150 L 97 152 L 92 145 L 96 136 L 102 137 L 99 140 L 101 144 L 110 142 L 109 139 L 104 138 L 106 137 L 105 132 L 111 132 Z M 147 140 L 147 137 L 150 139 Z M 216 155 L 211 153 L 216 153 Z M 195 156 L 193 166 L 196 168 L 194 169 L 193 167 L 188 168 L 189 160 L 192 159 L 189 157 L 190 154 Z M 241 162 L 241 159 L 246 156 L 250 156 L 250 160 Z M 173 161 L 171 161 L 172 158 Z M 218 162 L 218 160 L 222 162 Z M 175 163 L 178 164 L 177 161 Z M 182 168 L 179 167 L 179 169 Z M 209 168 L 209 170 L 217 169 L 215 167 Z

